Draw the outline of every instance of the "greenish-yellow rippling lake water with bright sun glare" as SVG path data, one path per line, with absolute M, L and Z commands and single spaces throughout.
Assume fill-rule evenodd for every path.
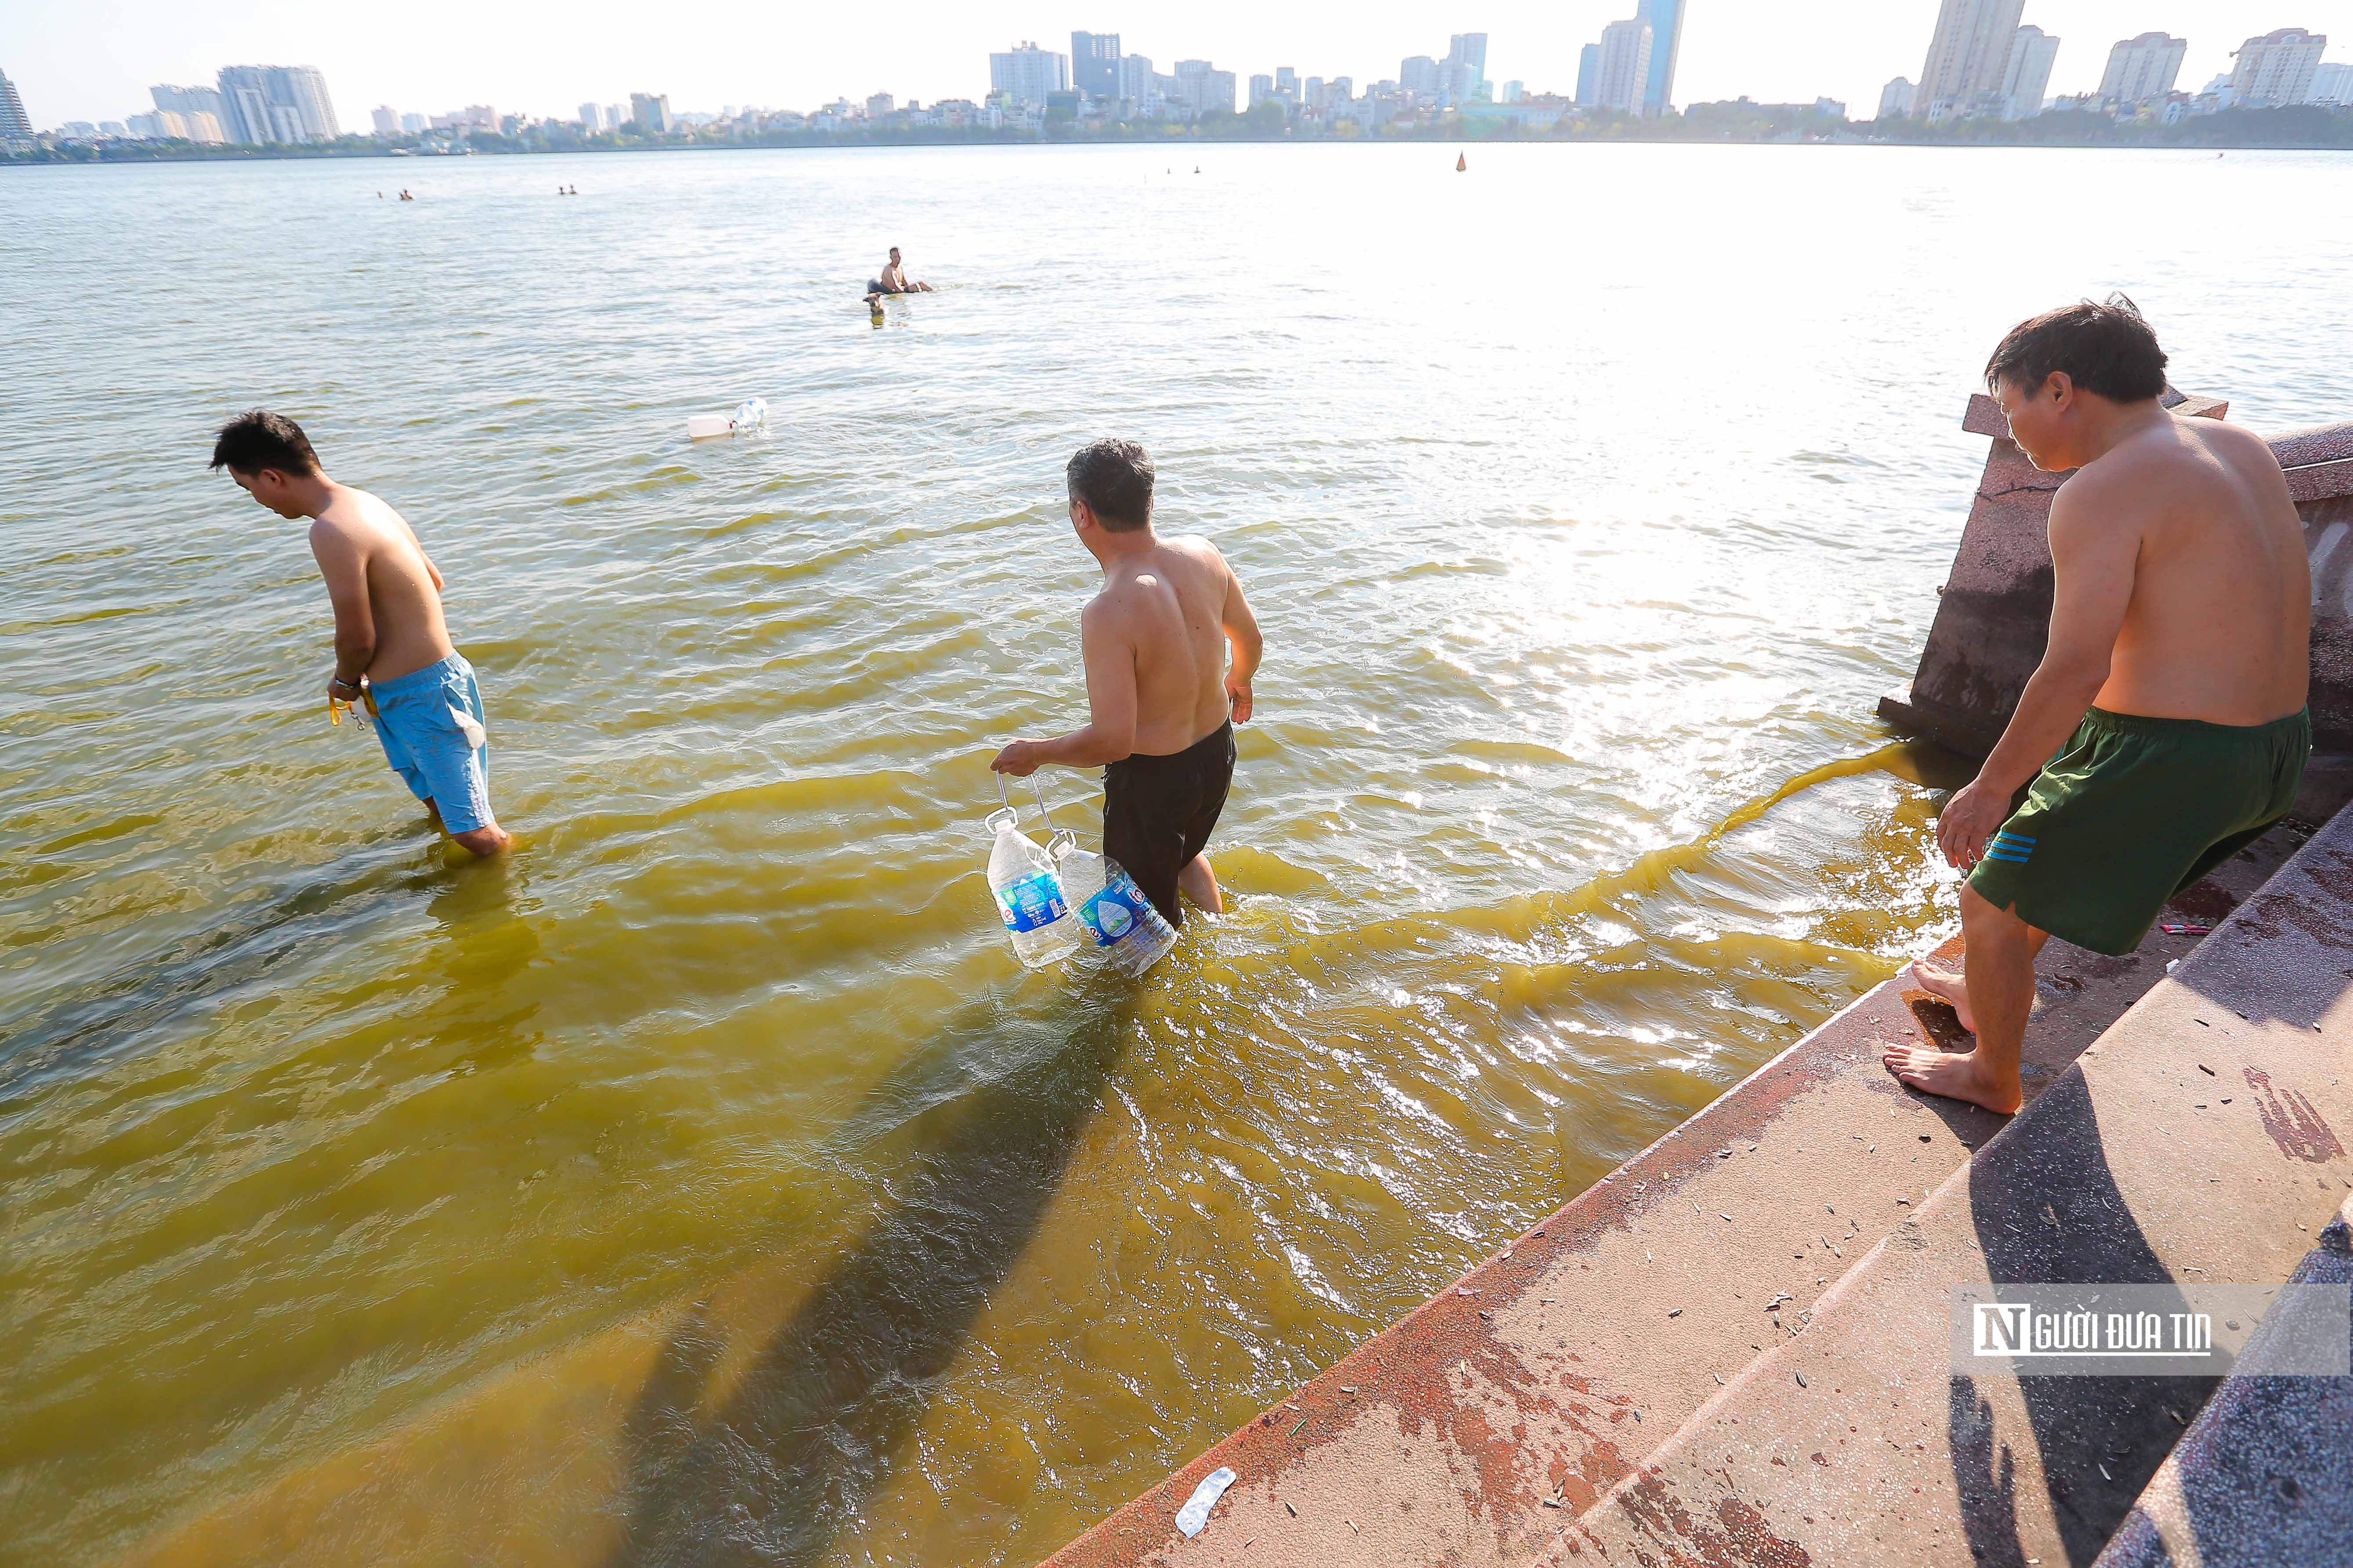
M 2346 155 L 1457 150 L 0 174 L 0 1561 L 435 1422 L 464 1549 L 369 1493 L 311 1561 L 1031 1561 L 1948 929 L 1871 705 L 2012 320 L 2353 414 Z M 508 863 L 327 726 L 252 404 L 447 571 Z M 1268 644 L 1141 990 L 979 877 L 1101 433 Z

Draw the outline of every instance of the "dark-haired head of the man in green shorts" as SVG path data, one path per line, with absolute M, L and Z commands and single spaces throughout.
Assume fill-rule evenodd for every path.
M 2035 468 L 2078 468 L 2085 416 L 2101 404 L 2165 395 L 2165 350 L 2122 294 L 2045 310 L 2009 329 L 1986 360 L 1986 388 L 2009 418 L 2009 437 Z

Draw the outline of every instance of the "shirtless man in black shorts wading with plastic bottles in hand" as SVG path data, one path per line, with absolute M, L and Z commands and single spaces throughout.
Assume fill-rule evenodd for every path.
M 1071 527 L 1104 567 L 1104 590 L 1078 618 L 1089 722 L 1054 741 L 1014 741 L 988 766 L 1014 778 L 1049 762 L 1104 769 L 1104 856 L 1172 926 L 1184 924 L 1179 889 L 1224 914 L 1202 849 L 1233 788 L 1233 726 L 1249 722 L 1259 623 L 1217 545 L 1153 531 L 1144 447 L 1089 442 L 1066 473 Z

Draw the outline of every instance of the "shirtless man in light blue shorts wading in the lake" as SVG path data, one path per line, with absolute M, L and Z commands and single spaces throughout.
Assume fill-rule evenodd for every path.
M 334 604 L 327 696 L 367 710 L 384 757 L 449 837 L 478 856 L 513 844 L 489 816 L 482 689 L 449 644 L 442 576 L 416 531 L 365 489 L 329 480 L 285 414 L 238 414 L 221 425 L 212 465 L 280 517 L 311 520 L 311 555 Z

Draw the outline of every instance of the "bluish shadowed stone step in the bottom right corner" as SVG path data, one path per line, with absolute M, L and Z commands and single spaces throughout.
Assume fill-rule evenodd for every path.
M 2287 1279 L 2353 1286 L 2353 1197 Z M 2353 1563 L 2353 1378 L 2224 1378 L 2092 1568 L 2198 1563 Z

